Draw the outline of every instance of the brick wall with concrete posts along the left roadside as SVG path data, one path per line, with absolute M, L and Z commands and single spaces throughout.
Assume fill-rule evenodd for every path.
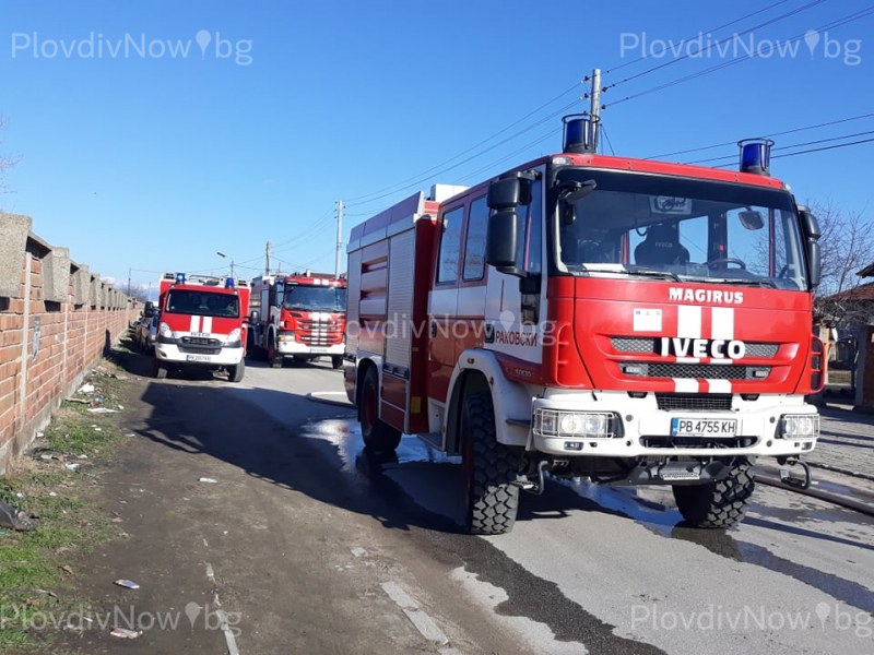
M 0 213 L 0 474 L 141 309 L 31 227 Z

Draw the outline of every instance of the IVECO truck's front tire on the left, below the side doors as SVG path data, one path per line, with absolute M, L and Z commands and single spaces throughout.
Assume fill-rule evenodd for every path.
M 519 507 L 519 457 L 498 443 L 492 394 L 464 398 L 461 417 L 466 527 L 474 535 L 503 535 L 512 529 Z

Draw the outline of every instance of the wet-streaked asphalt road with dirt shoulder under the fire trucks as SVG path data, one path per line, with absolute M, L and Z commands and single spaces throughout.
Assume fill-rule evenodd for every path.
M 511 534 L 472 537 L 458 462 L 414 437 L 397 458 L 366 456 L 353 410 L 307 398 L 343 400 L 327 365 L 140 384 L 114 483 L 131 541 L 95 565 L 128 557 L 155 611 L 217 595 L 232 629 L 146 633 L 130 652 L 874 646 L 874 525 L 849 510 L 759 487 L 742 525 L 702 532 L 682 525 L 670 490 L 555 483 L 522 497 Z

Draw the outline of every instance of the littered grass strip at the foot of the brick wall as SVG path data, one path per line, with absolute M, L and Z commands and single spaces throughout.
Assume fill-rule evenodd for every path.
M 111 364 L 95 370 L 90 382 L 96 389 L 88 395 L 101 402 L 94 406 L 117 407 L 123 381 L 114 377 Z M 74 555 L 117 534 L 93 503 L 93 480 L 125 437 L 115 425 L 118 414 L 90 414 L 88 406 L 64 403 L 33 456 L 25 455 L 0 478 L 0 498 L 26 509 L 37 522 L 33 532 L 0 535 L 0 652 L 45 652 L 54 627 L 27 628 L 39 624 L 46 612 L 59 617 L 79 607 L 64 567 Z M 79 468 L 68 469 L 68 464 Z

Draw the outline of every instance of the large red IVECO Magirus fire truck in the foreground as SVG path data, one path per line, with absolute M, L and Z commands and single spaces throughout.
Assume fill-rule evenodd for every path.
M 347 366 L 367 448 L 460 454 L 473 533 L 511 529 L 544 474 L 670 485 L 699 527 L 740 521 L 757 456 L 819 432 L 819 228 L 769 177 L 564 152 L 356 226 Z M 784 474 L 790 483 L 810 484 Z

